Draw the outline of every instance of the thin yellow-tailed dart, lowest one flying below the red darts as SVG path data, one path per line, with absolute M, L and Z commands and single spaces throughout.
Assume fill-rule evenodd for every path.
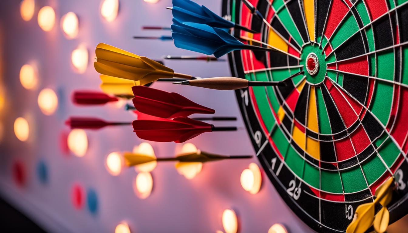
M 211 162 L 226 159 L 248 159 L 252 155 L 217 155 L 197 150 L 193 153 L 182 153 L 176 157 L 156 158 L 142 153 L 124 152 L 124 158 L 127 166 L 135 166 L 153 161 L 178 161 L 178 162 Z

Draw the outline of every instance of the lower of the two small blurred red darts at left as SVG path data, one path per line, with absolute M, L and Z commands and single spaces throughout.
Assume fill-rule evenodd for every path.
M 131 122 L 106 122 L 98 118 L 90 117 L 70 117 L 65 124 L 71 129 L 101 129 L 108 125 L 132 124 Z

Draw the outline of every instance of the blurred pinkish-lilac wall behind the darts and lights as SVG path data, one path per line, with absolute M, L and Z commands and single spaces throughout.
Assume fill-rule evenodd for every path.
M 160 163 L 151 172 L 151 194 L 141 199 L 133 189 L 138 174 L 135 169 L 122 168 L 114 176 L 106 168 L 109 153 L 131 151 L 143 142 L 131 127 L 86 131 L 89 144 L 85 155 L 78 157 L 67 152 L 69 129 L 64 120 L 69 115 L 135 120 L 135 115 L 124 111 L 123 105 L 84 108 L 71 103 L 73 90 L 99 89 L 99 75 L 93 68 L 99 42 L 156 60 L 162 60 L 163 55 L 199 55 L 177 49 L 171 41 L 132 39 L 170 35 L 170 31 L 143 31 L 141 27 L 169 27 L 172 16 L 165 7 L 171 6 L 171 0 L 155 4 L 120 0 L 118 16 L 112 22 L 102 17 L 102 2 L 35 0 L 33 16 L 28 21 L 20 14 L 19 0 L 0 2 L 1 197 L 50 232 L 114 232 L 121 222 L 126 222 L 131 232 L 216 232 L 223 230 L 225 209 L 237 214 L 240 232 L 266 233 L 275 223 L 284 224 L 289 232 L 311 232 L 286 206 L 266 176 L 262 177 L 259 193 L 253 195 L 242 188 L 240 175 L 251 162 L 259 164 L 257 158 L 207 163 L 191 180 L 180 175 L 174 163 Z M 220 0 L 196 2 L 221 12 Z M 42 30 L 38 24 L 38 13 L 44 6 L 55 11 L 55 25 L 50 31 Z M 64 36 L 61 29 L 61 18 L 70 11 L 79 19 L 78 35 L 73 39 Z M 79 46 L 89 53 L 82 71 L 71 60 Z M 227 61 L 164 63 L 175 72 L 201 77 L 230 75 Z M 38 79 L 31 89 L 24 88 L 20 81 L 24 64 L 34 68 Z M 198 149 L 226 155 L 254 154 L 233 91 L 197 90 L 169 83 L 155 83 L 153 87 L 180 93 L 215 109 L 217 115 L 238 118 L 233 123 L 240 127 L 237 132 L 208 133 L 190 140 Z M 50 115 L 38 105 L 38 95 L 45 88 L 58 98 L 58 107 Z M 15 121 L 20 117 L 29 126 L 25 141 L 14 133 Z M 151 145 L 158 157 L 174 156 L 182 147 L 175 143 Z M 398 224 L 404 226 L 404 222 Z M 396 226 L 390 232 L 392 229 L 399 232 Z

